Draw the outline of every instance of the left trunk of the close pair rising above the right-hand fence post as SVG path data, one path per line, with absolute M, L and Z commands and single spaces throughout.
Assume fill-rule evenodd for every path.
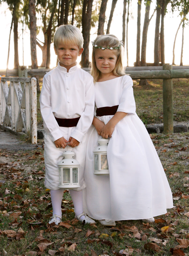
M 154 66 L 159 66 L 159 26 L 161 16 L 161 2 L 157 0 L 156 8 L 156 27 L 155 27 L 155 38 L 154 38 Z

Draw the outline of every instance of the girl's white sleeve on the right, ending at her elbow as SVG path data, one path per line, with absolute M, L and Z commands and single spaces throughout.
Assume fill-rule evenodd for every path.
M 131 77 L 127 75 L 125 75 L 123 79 L 123 93 L 117 111 L 135 113 L 136 105 L 133 94 L 133 81 Z

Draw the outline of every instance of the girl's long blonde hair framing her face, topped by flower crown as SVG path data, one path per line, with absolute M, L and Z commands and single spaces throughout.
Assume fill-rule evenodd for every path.
M 115 68 L 113 70 L 113 74 L 115 76 L 124 76 L 125 70 L 124 70 L 124 47 L 121 45 L 119 39 L 114 35 L 100 35 L 97 36 L 96 39 L 93 42 L 93 52 L 92 52 L 92 63 L 91 63 L 91 75 L 94 78 L 94 82 L 99 80 L 100 77 L 100 71 L 96 67 L 96 61 L 95 61 L 95 51 L 100 48 L 115 48 L 114 51 L 117 52 L 117 61 L 115 64 Z M 109 49 L 109 51 L 112 51 Z

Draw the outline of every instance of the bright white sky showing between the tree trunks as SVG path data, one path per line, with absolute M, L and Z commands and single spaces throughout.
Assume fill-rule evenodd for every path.
M 105 29 L 107 27 L 107 22 L 109 18 L 109 13 L 111 9 L 112 0 L 108 1 L 107 9 L 106 9 L 106 23 Z M 150 17 L 155 8 L 155 0 L 151 3 L 150 8 Z M 122 39 L 122 10 L 123 10 L 123 1 L 118 0 L 114 16 L 112 20 L 112 25 L 110 28 L 110 33 L 115 34 L 120 40 Z M 143 19 L 144 19 L 144 11 L 145 6 L 142 5 L 141 10 L 141 35 L 143 29 Z M 1 60 L 0 60 L 0 69 L 6 69 L 7 63 L 7 55 L 8 55 L 8 38 L 11 26 L 11 12 L 8 10 L 7 5 L 2 3 L 0 5 L 0 24 L 1 24 Z M 146 62 L 153 63 L 153 49 L 154 49 L 154 30 L 155 30 L 155 21 L 156 15 L 153 16 L 150 21 L 148 36 L 147 36 L 147 52 L 146 52 Z M 173 42 L 175 39 L 175 33 L 180 24 L 180 17 L 178 12 L 174 13 L 174 16 L 171 10 L 168 10 L 168 13 L 165 16 L 165 63 L 172 63 L 172 51 L 173 51 Z M 96 30 L 97 28 L 93 28 L 91 30 L 90 40 L 94 40 L 96 38 Z M 22 27 L 19 27 L 19 63 L 23 65 L 22 61 Z M 43 35 L 37 36 L 39 40 L 43 41 Z M 130 16 L 128 23 L 128 62 L 129 66 L 133 66 L 136 60 L 136 38 L 137 38 L 137 2 L 132 1 L 130 5 Z M 182 28 L 177 35 L 176 45 L 175 45 L 175 64 L 180 65 L 180 56 L 181 56 L 181 39 L 182 39 Z M 142 39 L 141 39 L 142 42 Z M 187 25 L 184 29 L 184 50 L 183 50 L 183 65 L 189 65 L 189 26 Z M 90 61 L 91 61 L 91 52 L 92 52 L 92 44 L 89 47 L 90 52 Z M 126 54 L 125 54 L 126 55 Z M 41 50 L 37 46 L 37 56 L 38 56 L 38 65 L 41 64 L 42 54 Z M 78 58 L 78 63 L 80 58 Z M 125 56 L 125 65 L 127 64 L 126 56 Z M 24 65 L 31 65 L 31 57 L 30 57 L 30 31 L 27 29 L 24 32 Z M 51 67 L 55 67 L 56 65 L 56 55 L 54 54 L 53 45 L 51 45 Z M 10 57 L 9 57 L 9 69 L 14 67 L 14 41 L 13 41 L 13 30 L 11 33 L 11 45 L 10 45 Z

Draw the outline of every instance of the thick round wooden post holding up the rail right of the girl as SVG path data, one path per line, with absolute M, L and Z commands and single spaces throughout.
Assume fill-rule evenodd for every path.
M 172 65 L 163 65 L 163 70 L 172 70 Z M 163 79 L 163 132 L 173 133 L 172 79 Z

